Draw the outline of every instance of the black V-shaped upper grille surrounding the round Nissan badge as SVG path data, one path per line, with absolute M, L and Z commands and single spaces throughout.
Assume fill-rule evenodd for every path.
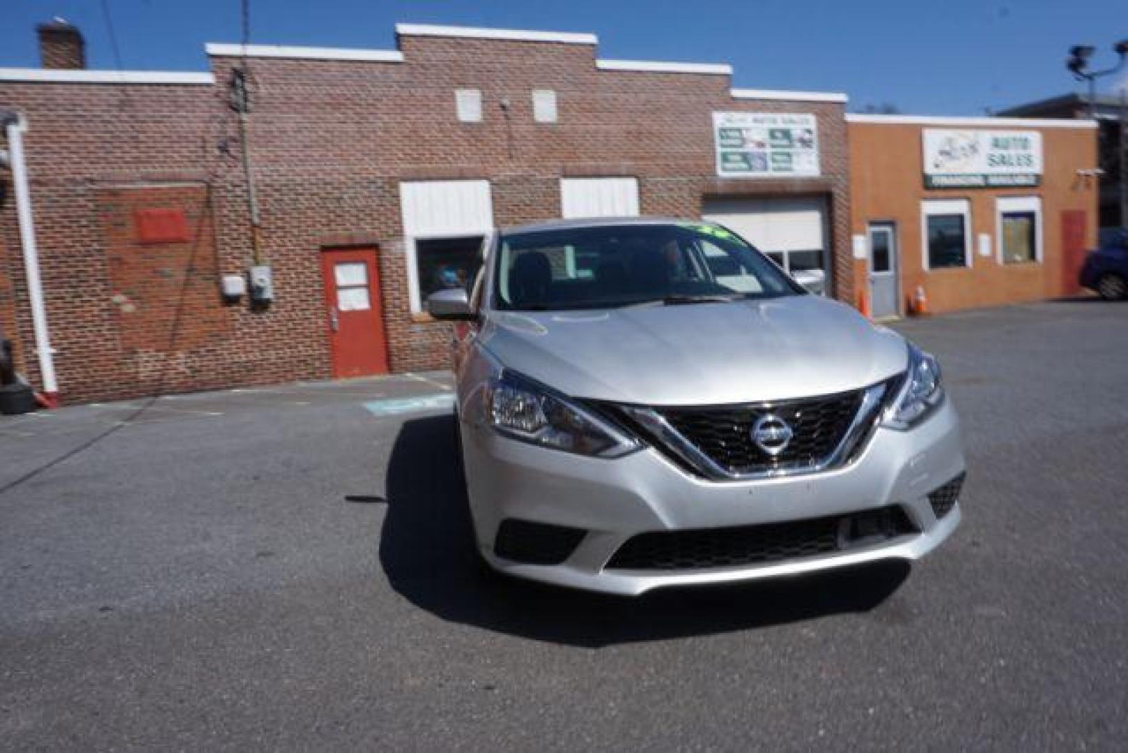
M 730 474 L 803 470 L 819 465 L 838 447 L 862 406 L 864 389 L 838 395 L 705 408 L 659 408 L 662 418 L 689 444 Z M 752 439 L 756 421 L 774 413 L 787 422 L 791 441 L 777 455 Z

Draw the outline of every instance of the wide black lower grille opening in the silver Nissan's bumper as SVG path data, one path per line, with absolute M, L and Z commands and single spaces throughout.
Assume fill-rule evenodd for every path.
M 638 534 L 607 563 L 615 570 L 699 570 L 832 554 L 919 533 L 897 506 L 788 523 Z

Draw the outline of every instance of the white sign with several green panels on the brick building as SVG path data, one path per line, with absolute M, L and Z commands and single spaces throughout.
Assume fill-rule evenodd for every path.
M 721 177 L 819 175 L 819 132 L 803 113 L 713 113 Z

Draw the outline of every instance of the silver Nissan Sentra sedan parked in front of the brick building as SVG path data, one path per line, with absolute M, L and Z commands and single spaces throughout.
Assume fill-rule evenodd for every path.
M 457 321 L 477 549 L 617 594 L 917 559 L 960 522 L 936 359 L 710 222 L 500 231 Z

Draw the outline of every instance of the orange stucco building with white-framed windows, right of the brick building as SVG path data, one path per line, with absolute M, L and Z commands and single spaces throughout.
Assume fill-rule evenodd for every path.
M 854 290 L 875 318 L 1078 291 L 1092 122 L 847 115 L 847 133 Z

